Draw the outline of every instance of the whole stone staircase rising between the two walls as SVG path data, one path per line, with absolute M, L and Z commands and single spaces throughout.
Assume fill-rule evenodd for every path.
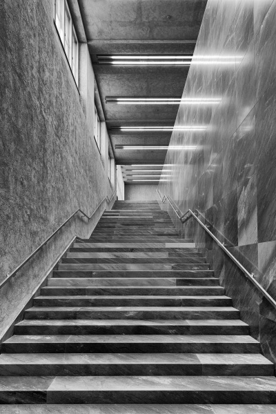
M 203 253 L 157 202 L 116 201 L 2 344 L 0 413 L 275 414 L 274 366 Z

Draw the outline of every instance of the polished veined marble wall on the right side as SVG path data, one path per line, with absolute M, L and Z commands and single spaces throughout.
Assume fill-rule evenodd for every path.
M 171 177 L 159 190 L 183 212 L 199 210 L 276 299 L 275 22 L 276 0 L 208 0 L 175 122 L 203 128 L 174 130 L 165 161 Z M 183 227 L 170 214 L 208 248 L 226 293 L 276 362 L 272 306 L 193 219 Z

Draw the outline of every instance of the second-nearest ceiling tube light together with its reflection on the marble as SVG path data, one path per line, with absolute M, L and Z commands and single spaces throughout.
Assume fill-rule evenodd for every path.
M 106 97 L 106 103 L 118 105 L 217 105 L 221 98 L 170 98 L 170 97 Z

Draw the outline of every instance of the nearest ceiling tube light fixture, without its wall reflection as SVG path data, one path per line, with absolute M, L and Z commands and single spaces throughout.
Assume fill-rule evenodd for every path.
M 97 55 L 99 65 L 190 66 L 192 55 Z

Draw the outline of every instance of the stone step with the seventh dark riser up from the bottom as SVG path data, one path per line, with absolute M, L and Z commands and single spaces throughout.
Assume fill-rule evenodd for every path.
M 101 287 L 101 288 L 79 288 L 79 287 L 62 287 L 62 286 L 44 286 L 41 288 L 41 295 L 43 296 L 75 296 L 75 295 L 142 295 L 148 297 L 157 296 L 217 296 L 224 295 L 225 290 L 222 286 L 185 286 L 183 288 L 176 288 L 174 286 L 162 288 L 156 287 Z

